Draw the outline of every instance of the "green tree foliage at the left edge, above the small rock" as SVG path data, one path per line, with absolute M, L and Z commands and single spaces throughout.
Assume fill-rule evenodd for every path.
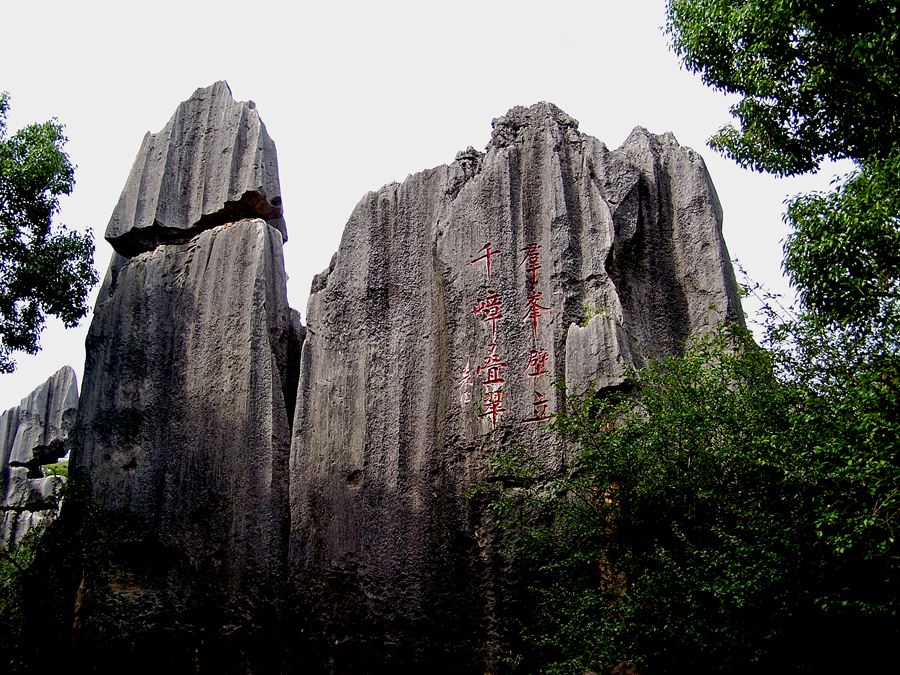
M 53 223 L 75 184 L 62 125 L 30 124 L 7 137 L 8 109 L 0 93 L 0 372 L 15 368 L 13 352 L 38 351 L 46 315 L 76 325 L 97 283 L 91 234 Z

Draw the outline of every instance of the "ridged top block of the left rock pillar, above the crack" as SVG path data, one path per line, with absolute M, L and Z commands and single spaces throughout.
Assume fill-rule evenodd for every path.
M 147 133 L 106 239 L 131 257 L 202 230 L 262 218 L 287 240 L 275 143 L 252 101 L 224 81 L 197 89 L 162 131 Z

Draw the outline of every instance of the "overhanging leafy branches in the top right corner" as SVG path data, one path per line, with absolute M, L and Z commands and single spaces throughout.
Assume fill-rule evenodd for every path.
M 892 0 L 670 0 L 667 28 L 685 66 L 742 97 L 712 146 L 791 175 L 900 142 L 898 26 Z

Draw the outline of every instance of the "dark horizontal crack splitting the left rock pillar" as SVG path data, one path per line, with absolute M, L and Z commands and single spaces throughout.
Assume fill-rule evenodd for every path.
M 237 201 L 225 202 L 225 206 L 215 213 L 203 214 L 200 220 L 190 227 L 168 227 L 154 221 L 149 227 L 132 227 L 118 237 L 107 237 L 107 241 L 117 253 L 133 258 L 160 245 L 186 244 L 206 230 L 247 218 L 265 220 L 287 240 L 282 214 L 281 197 L 273 197 L 270 200 L 264 194 L 250 190 L 241 195 Z

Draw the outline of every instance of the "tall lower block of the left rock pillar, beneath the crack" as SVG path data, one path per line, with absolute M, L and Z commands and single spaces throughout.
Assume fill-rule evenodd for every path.
M 174 537 L 189 585 L 241 615 L 283 573 L 299 349 L 285 284 L 277 230 L 221 225 L 116 256 L 87 338 L 73 470 L 104 510 Z

